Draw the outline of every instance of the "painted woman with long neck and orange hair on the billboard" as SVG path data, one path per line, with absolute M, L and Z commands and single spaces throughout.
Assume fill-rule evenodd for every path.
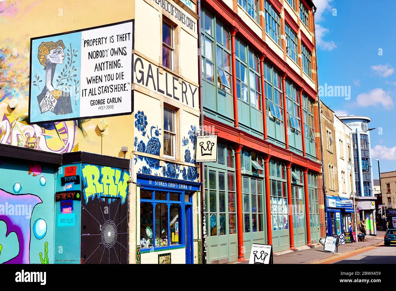
M 42 42 L 38 46 L 38 61 L 46 70 L 46 86 L 37 96 L 40 112 L 51 111 L 56 115 L 72 112 L 70 93 L 53 86 L 53 77 L 57 65 L 63 64 L 65 59 L 65 45 L 63 40 L 57 42 Z

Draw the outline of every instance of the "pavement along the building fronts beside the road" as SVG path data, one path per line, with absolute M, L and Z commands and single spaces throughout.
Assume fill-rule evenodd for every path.
M 366 236 L 367 242 L 356 242 L 339 245 L 337 254 L 324 252 L 323 245 L 320 243 L 315 244 L 314 248 L 299 247 L 299 250 L 296 251 L 283 251 L 274 253 L 274 264 L 319 264 L 323 261 L 335 259 L 341 255 L 345 255 L 359 249 L 381 245 L 384 242 L 384 235 L 384 231 L 377 231 L 377 236 Z M 249 260 L 247 259 L 244 262 L 232 262 L 231 264 L 238 263 L 249 264 Z

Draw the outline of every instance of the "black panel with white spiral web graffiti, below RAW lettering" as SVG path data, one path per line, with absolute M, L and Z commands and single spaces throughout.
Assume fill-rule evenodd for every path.
M 81 263 L 128 263 L 128 204 L 120 198 L 81 203 Z

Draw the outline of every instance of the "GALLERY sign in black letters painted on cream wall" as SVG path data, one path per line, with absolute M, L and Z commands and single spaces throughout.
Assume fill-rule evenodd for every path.
M 160 73 L 158 66 L 137 55 L 133 61 L 133 83 L 199 110 L 198 87 L 185 80 L 179 82 L 178 76 L 166 70 Z

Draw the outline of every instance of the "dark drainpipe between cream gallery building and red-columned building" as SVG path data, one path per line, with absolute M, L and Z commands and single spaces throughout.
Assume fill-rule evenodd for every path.
M 199 96 L 199 125 L 201 128 L 201 135 L 204 129 L 204 105 L 202 100 L 202 80 L 201 80 L 201 51 L 202 51 L 202 42 L 201 42 L 201 0 L 197 0 L 197 13 L 198 13 L 198 96 Z M 202 225 L 202 238 L 201 238 L 201 247 L 202 247 L 202 264 L 206 264 L 206 221 L 205 221 L 205 167 L 204 163 L 200 163 L 200 176 L 201 176 L 201 225 Z M 198 227 L 198 226 L 197 226 Z

